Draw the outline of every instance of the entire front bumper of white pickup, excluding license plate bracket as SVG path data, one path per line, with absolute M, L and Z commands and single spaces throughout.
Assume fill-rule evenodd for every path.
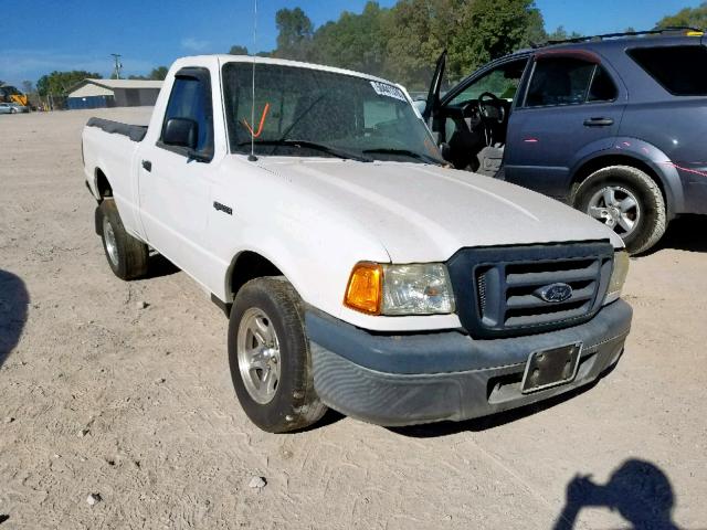
M 351 417 L 398 426 L 485 416 L 591 383 L 621 357 L 631 317 L 631 306 L 618 300 L 580 326 L 493 340 L 460 331 L 370 333 L 315 309 L 306 325 L 323 402 Z M 571 382 L 521 393 L 531 352 L 574 342 L 583 348 Z

